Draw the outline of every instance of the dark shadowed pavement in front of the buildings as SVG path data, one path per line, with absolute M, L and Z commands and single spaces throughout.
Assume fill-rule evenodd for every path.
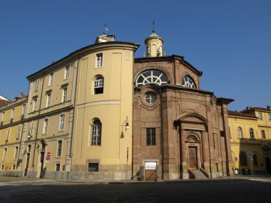
M 0 177 L 0 202 L 270 202 L 271 177 L 160 182 Z

